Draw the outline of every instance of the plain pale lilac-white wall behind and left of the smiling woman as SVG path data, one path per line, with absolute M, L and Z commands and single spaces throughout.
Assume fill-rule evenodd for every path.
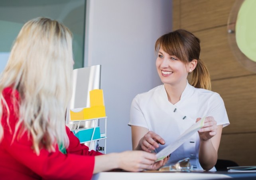
M 160 85 L 156 39 L 171 31 L 171 0 L 87 0 L 85 66 L 102 65 L 107 153 L 132 149 L 128 126 L 136 94 Z

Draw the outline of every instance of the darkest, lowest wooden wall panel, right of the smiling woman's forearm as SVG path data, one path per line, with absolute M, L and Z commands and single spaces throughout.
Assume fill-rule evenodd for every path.
M 229 159 L 239 166 L 255 166 L 256 134 L 224 134 L 218 151 L 219 159 Z

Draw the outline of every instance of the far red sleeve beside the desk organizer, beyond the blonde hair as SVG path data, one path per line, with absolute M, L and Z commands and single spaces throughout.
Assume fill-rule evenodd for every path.
M 89 147 L 84 144 L 81 144 L 79 139 L 74 135 L 73 132 L 69 130 L 66 126 L 67 135 L 69 137 L 69 148 L 67 149 L 67 153 L 77 154 L 77 155 L 102 155 L 100 152 L 89 151 Z

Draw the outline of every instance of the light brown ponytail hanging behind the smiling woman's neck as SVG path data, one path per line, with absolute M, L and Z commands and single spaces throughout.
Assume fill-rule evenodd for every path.
M 205 63 L 197 60 L 197 66 L 191 73 L 190 84 L 197 88 L 203 88 L 211 91 L 211 78 Z

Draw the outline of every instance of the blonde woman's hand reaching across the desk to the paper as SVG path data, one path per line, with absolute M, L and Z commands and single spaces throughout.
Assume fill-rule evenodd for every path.
M 163 162 L 156 162 L 156 155 L 145 151 L 124 151 L 118 153 L 118 168 L 123 170 L 138 172 L 144 169 L 157 169 Z M 162 160 L 163 161 L 163 160 Z M 166 163 L 166 162 L 165 162 Z

